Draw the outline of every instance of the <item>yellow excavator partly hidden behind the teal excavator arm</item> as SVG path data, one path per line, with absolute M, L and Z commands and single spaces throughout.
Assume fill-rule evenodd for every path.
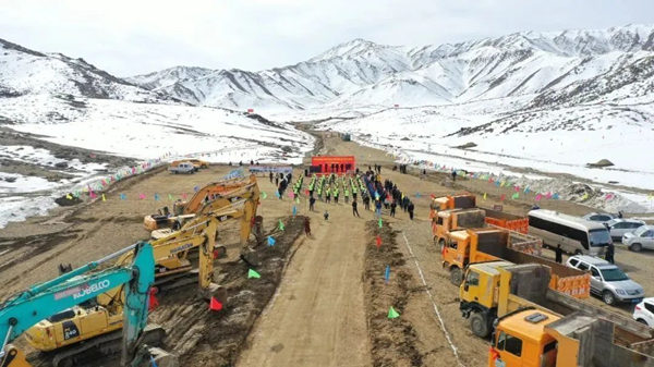
M 182 230 L 153 241 L 155 284 L 170 276 L 190 273 L 187 271 L 192 266 L 187 255 L 190 250 L 197 248 L 199 249 L 197 280 L 199 293 L 206 299 L 214 297 L 225 304 L 227 301 L 226 290 L 213 282 L 217 229 L 222 221 L 251 218 L 254 211 L 246 210 L 245 201 L 243 199 L 232 203 L 230 207 L 195 217 Z M 249 235 L 249 230 L 245 232 L 242 230 L 241 240 L 245 238 L 246 241 Z M 116 266 L 130 264 L 132 258 L 133 254 L 125 253 L 119 257 Z M 71 309 L 65 320 L 41 320 L 26 331 L 27 342 L 38 351 L 59 351 L 82 341 L 85 345 L 95 343 L 96 340 L 104 339 L 106 334 L 118 331 L 123 325 L 122 289 L 123 286 L 108 289 L 85 307 Z M 66 334 L 66 330 L 70 330 L 71 326 L 75 326 L 77 332 Z

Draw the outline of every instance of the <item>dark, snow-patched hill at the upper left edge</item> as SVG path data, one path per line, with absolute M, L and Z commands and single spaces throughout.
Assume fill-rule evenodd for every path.
M 118 78 L 83 59 L 41 53 L 0 39 L 0 97 L 84 96 L 161 102 L 159 95 Z

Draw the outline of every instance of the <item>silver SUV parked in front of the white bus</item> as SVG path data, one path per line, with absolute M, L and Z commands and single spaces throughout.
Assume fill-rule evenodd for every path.
M 602 297 L 607 305 L 617 302 L 639 303 L 645 291 L 629 279 L 620 268 L 604 259 L 588 255 L 574 255 L 568 258 L 566 266 L 591 272 L 591 293 Z

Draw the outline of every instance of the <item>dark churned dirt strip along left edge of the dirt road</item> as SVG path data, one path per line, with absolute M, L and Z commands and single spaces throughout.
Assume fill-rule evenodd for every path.
M 274 246 L 257 248 L 254 270 L 261 279 L 247 279 L 250 267 L 242 260 L 217 266 L 217 283 L 227 289 L 228 301 L 221 311 L 208 309 L 195 285 L 161 295 L 152 322 L 167 331 L 166 350 L 180 356 L 186 366 L 233 366 L 254 322 L 281 281 L 290 249 L 303 233 L 304 217 L 286 220 Z

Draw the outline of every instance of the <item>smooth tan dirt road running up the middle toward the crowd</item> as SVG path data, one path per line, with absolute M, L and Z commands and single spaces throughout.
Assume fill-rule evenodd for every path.
M 371 365 L 361 277 L 365 220 L 353 218 L 348 204 L 316 209 L 312 236 L 298 248 L 238 366 Z

